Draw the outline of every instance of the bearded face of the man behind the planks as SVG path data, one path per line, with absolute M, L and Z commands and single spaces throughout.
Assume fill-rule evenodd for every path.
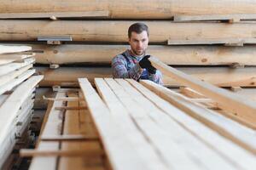
M 136 55 L 142 55 L 148 48 L 148 34 L 147 31 L 143 31 L 140 34 L 136 32 L 131 32 L 131 38 L 129 38 L 129 43 L 131 50 Z

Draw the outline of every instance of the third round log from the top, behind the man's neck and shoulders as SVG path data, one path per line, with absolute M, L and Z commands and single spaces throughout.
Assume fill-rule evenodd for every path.
M 18 45 L 18 44 L 16 44 Z M 129 48 L 127 45 L 63 44 L 48 46 L 29 44 L 37 53 L 38 64 L 111 64 L 117 54 Z M 256 65 L 256 49 L 253 45 L 244 47 L 223 46 L 160 46 L 149 45 L 147 53 L 157 56 L 166 65 Z

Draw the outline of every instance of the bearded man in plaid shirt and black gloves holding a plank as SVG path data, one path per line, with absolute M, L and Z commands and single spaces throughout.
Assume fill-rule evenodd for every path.
M 148 79 L 162 84 L 162 75 L 151 65 L 146 54 L 148 48 L 148 26 L 135 23 L 128 29 L 128 41 L 131 49 L 116 55 L 112 59 L 113 77 L 133 78 L 136 81 Z

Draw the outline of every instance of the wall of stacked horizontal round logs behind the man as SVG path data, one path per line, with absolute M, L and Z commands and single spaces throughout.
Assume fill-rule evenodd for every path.
M 41 82 L 45 87 L 78 86 L 78 77 L 88 77 L 91 82 L 94 77 L 112 77 L 111 59 L 128 47 L 127 29 L 134 22 L 149 26 L 148 53 L 166 64 L 221 87 L 256 84 L 256 3 L 26 0 L 20 4 L 15 0 L 2 3 L 0 8 L 0 41 L 43 41 L 32 45 L 37 52 L 43 52 L 38 53 L 37 63 L 52 68 L 61 65 L 56 70 L 38 67 L 45 76 Z M 62 44 L 45 44 L 56 39 Z M 70 67 L 73 64 L 83 66 Z M 168 77 L 164 82 L 178 85 Z

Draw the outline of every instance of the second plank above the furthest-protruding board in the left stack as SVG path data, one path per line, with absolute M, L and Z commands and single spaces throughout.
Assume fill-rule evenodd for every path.
M 15 79 L 16 77 L 19 77 L 22 73 L 26 72 L 27 70 L 31 69 L 33 65 L 27 65 L 25 67 L 21 67 L 17 71 L 13 71 L 7 75 L 4 75 L 0 77 L 0 87 L 3 86 L 4 84 L 10 82 L 11 80 Z

